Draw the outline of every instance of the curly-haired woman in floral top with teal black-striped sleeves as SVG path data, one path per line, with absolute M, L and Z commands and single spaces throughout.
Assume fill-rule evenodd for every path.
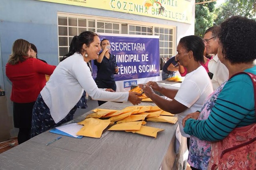
M 208 166 L 208 141 L 223 140 L 234 128 L 255 123 L 252 80 L 246 74 L 232 76 L 238 72 L 256 74 L 256 21 L 234 16 L 220 26 L 218 58 L 228 68 L 229 80 L 208 97 L 201 113 L 197 111 L 183 120 L 184 132 L 192 135 L 188 162 L 197 169 Z

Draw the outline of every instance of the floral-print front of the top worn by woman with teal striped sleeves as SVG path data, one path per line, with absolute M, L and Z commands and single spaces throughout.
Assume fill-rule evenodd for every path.
M 217 88 L 208 98 L 204 101 L 201 113 L 198 117 L 198 120 L 205 120 L 210 115 L 212 108 L 215 105 L 215 102 L 218 98 L 218 95 L 222 91 L 222 88 L 226 82 L 222 83 L 219 88 Z M 208 167 L 211 156 L 211 142 L 203 141 L 197 137 L 190 137 L 190 148 L 188 154 L 188 163 L 190 166 L 205 170 Z

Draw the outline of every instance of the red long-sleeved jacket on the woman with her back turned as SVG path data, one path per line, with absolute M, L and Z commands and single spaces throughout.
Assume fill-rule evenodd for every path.
M 45 74 L 51 75 L 55 68 L 34 58 L 15 65 L 7 63 L 6 76 L 12 82 L 11 100 L 16 103 L 36 101 L 46 84 Z

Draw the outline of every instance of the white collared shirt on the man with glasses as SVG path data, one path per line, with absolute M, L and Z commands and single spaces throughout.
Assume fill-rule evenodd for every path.
M 208 69 L 212 76 L 212 87 L 213 90 L 216 90 L 220 85 L 228 80 L 228 68 L 222 64 L 218 58 L 218 55 L 215 55 L 208 63 Z

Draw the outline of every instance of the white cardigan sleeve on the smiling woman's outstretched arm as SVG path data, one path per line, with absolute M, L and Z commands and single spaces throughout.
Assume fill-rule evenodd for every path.
M 93 100 L 112 101 L 112 102 L 127 102 L 129 92 L 107 92 L 104 89 L 99 89 L 96 85 L 90 68 L 85 62 L 76 63 L 72 67 L 72 74 L 78 80 L 80 86 L 92 97 Z

